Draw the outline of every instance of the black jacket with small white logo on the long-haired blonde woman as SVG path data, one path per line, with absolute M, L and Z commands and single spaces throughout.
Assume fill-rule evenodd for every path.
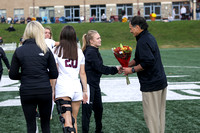
M 20 80 L 20 95 L 52 93 L 49 79 L 56 79 L 58 71 L 51 50 L 45 54 L 34 39 L 27 39 L 13 54 L 9 77 Z

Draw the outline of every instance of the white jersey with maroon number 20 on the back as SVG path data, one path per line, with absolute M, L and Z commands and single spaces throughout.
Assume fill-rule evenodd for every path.
M 80 65 L 85 64 L 85 56 L 82 50 L 78 49 L 78 60 L 62 59 L 56 54 L 54 56 L 59 71 L 55 86 L 55 97 L 65 97 L 75 92 L 82 92 L 79 79 Z

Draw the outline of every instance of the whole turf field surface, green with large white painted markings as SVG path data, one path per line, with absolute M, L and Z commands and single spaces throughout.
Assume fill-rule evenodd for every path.
M 161 49 L 168 79 L 166 106 L 166 133 L 200 132 L 200 48 Z M 119 65 L 111 50 L 101 50 L 106 65 Z M 12 53 L 7 53 L 9 60 Z M 6 73 L 4 73 L 6 74 Z M 0 83 L 0 133 L 24 133 L 26 124 L 19 102 L 17 81 L 3 76 Z M 141 92 L 135 74 L 129 75 L 126 85 L 122 75 L 103 76 L 101 80 L 104 101 L 103 130 L 105 133 L 147 133 L 143 118 Z M 6 106 L 9 105 L 10 106 Z M 14 105 L 15 106 L 14 106 Z M 93 133 L 91 118 L 90 132 Z M 81 132 L 81 108 L 78 116 Z M 52 133 L 61 133 L 56 109 L 51 120 Z

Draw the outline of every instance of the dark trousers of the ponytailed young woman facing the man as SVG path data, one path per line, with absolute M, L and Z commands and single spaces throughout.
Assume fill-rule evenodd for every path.
M 89 132 L 90 117 L 94 111 L 94 118 L 96 122 L 96 133 L 102 130 L 102 114 L 103 105 L 101 99 L 101 90 L 99 87 L 90 86 L 90 104 L 82 104 L 82 133 Z

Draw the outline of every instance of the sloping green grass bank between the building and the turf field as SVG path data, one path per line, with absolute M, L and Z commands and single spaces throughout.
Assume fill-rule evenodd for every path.
M 200 21 L 148 21 L 149 31 L 155 36 L 160 48 L 182 48 L 182 47 L 200 47 Z M 88 30 L 97 30 L 102 38 L 101 49 L 110 49 L 116 47 L 119 43 L 135 47 L 136 40 L 129 33 L 129 23 L 66 23 L 66 24 L 43 24 L 51 26 L 54 40 L 59 41 L 59 34 L 63 26 L 72 25 L 81 40 L 82 35 Z M 15 32 L 8 32 L 5 29 L 8 24 L 0 24 L 0 36 L 4 43 L 19 42 L 23 35 L 26 24 L 14 24 Z

